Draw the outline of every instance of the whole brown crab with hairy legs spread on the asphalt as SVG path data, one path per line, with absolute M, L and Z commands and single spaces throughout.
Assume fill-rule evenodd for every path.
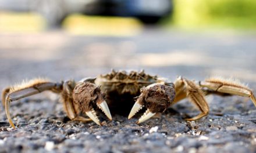
M 61 94 L 64 110 L 72 121 L 94 121 L 102 125 L 97 112 L 102 112 L 112 120 L 111 111 L 130 110 L 128 119 L 145 107 L 145 112 L 137 121 L 147 121 L 158 112 L 164 112 L 170 105 L 188 97 L 200 110 L 200 114 L 186 121 L 195 121 L 209 113 L 205 97 L 207 94 L 232 94 L 250 97 L 256 106 L 255 96 L 250 88 L 233 79 L 208 78 L 205 81 L 190 81 L 178 77 L 174 83 L 144 71 L 114 71 L 96 78 L 51 82 L 48 79 L 33 79 L 20 85 L 8 87 L 2 92 L 2 104 L 10 125 L 15 128 L 10 117 L 10 102 L 23 97 L 51 90 Z M 109 109 L 110 108 L 110 109 Z M 111 111 L 110 111 L 111 110 Z M 86 118 L 86 116 L 88 118 Z

